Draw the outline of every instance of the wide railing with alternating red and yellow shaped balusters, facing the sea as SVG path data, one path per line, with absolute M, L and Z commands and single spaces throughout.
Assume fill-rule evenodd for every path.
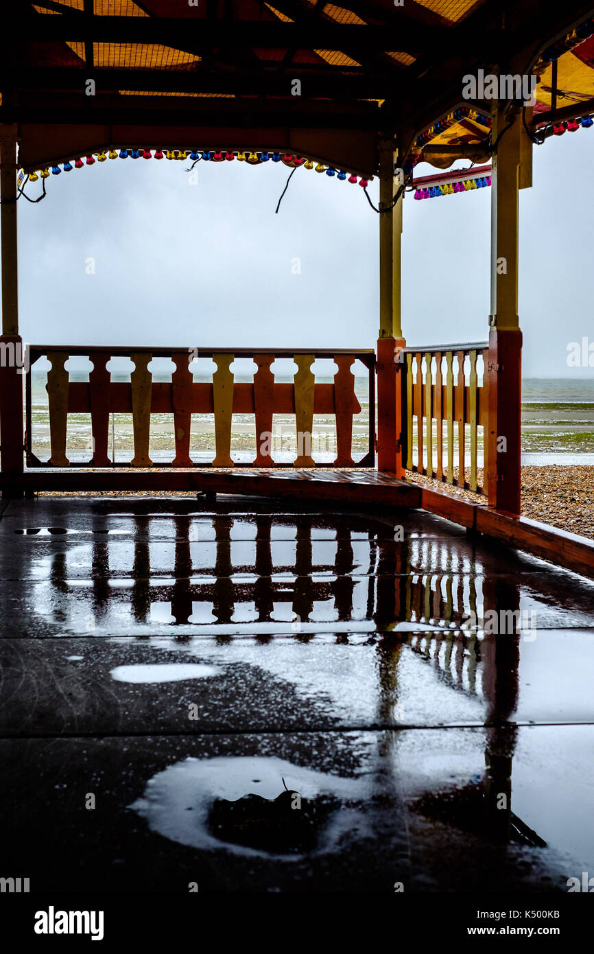
M 70 381 L 66 362 L 73 356 L 92 362 L 88 382 Z M 255 416 L 255 467 L 272 467 L 273 415 L 295 415 L 297 458 L 294 467 L 314 467 L 311 454 L 314 415 L 336 419 L 337 457 L 334 467 L 373 467 L 375 461 L 375 355 L 372 350 L 331 349 L 236 349 L 233 353 L 213 348 L 104 348 L 31 345 L 33 365 L 47 356 L 51 457 L 47 464 L 31 452 L 31 369 L 27 375 L 27 448 L 29 467 L 69 467 L 66 455 L 68 415 L 91 415 L 93 467 L 152 467 L 149 453 L 152 414 L 173 414 L 175 456 L 170 467 L 194 467 L 190 456 L 193 414 L 215 416 L 215 459 L 200 467 L 233 467 L 231 434 L 234 414 Z M 134 364 L 130 382 L 113 382 L 108 363 L 127 357 Z M 171 358 L 175 365 L 171 382 L 154 382 L 149 364 L 153 358 Z M 216 365 L 212 382 L 195 382 L 190 363 L 196 358 L 212 358 Z M 252 358 L 256 363 L 253 382 L 236 382 L 231 364 L 235 359 Z M 292 359 L 297 364 L 293 383 L 275 381 L 271 364 L 276 359 Z M 312 364 L 317 358 L 332 359 L 338 370 L 332 383 L 316 382 Z M 355 394 L 352 365 L 359 361 L 368 369 L 369 443 L 362 460 L 352 456 L 353 418 L 361 407 Z M 114 465 L 108 455 L 109 419 L 112 413 L 133 417 L 133 460 Z M 87 465 L 82 465 L 87 466 Z M 159 465 L 161 466 L 161 465 Z M 249 465 L 248 465 L 249 466 Z M 326 465 L 328 466 L 328 465 Z

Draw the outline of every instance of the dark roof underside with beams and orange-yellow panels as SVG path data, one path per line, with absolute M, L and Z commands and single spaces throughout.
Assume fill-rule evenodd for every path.
M 373 175 L 379 138 L 418 156 L 427 128 L 423 145 L 450 147 L 451 162 L 489 135 L 491 103 L 462 99 L 462 76 L 480 68 L 537 64 L 537 112 L 594 110 L 594 41 L 570 35 L 590 14 L 572 0 L 6 3 L 0 122 L 18 124 L 25 168 L 110 145 L 218 147 Z M 556 76 L 541 55 L 553 41 L 566 45 Z

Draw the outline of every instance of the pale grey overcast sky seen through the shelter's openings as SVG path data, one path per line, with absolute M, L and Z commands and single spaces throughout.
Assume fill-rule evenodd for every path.
M 520 194 L 525 377 L 573 377 L 568 342 L 594 341 L 593 151 L 594 130 L 535 147 L 534 186 Z M 188 166 L 108 160 L 50 176 L 36 205 L 19 201 L 26 341 L 375 345 L 379 217 L 358 185 L 299 169 L 275 215 L 289 174 L 281 163 L 200 162 L 196 184 Z M 377 183 L 370 194 L 377 203 Z M 409 344 L 486 339 L 489 222 L 490 189 L 406 197 Z M 577 373 L 594 378 L 594 368 Z

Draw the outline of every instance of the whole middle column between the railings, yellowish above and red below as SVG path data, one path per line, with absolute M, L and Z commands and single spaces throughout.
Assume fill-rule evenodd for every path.
M 401 377 L 405 371 L 401 349 L 400 245 L 402 199 L 392 208 L 399 182 L 394 177 L 394 141 L 379 148 L 379 339 L 378 339 L 378 469 L 403 476 L 401 463 Z

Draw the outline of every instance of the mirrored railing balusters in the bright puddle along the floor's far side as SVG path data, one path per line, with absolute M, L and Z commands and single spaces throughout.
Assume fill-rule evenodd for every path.
M 165 605 L 167 622 L 196 629 L 234 623 L 249 630 L 264 623 L 280 632 L 297 620 L 297 632 L 316 633 L 319 623 L 357 630 L 365 620 L 371 625 L 364 627 L 367 632 L 389 633 L 396 623 L 408 622 L 449 638 L 483 602 L 481 564 L 457 562 L 457 542 L 433 541 L 429 550 L 416 540 L 403 546 L 364 530 L 364 522 L 354 531 L 339 524 L 333 529 L 328 516 L 297 525 L 258 514 L 251 539 L 236 539 L 233 518 L 196 522 L 177 515 L 174 527 L 167 520 L 166 532 L 159 531 L 161 519 L 133 517 L 133 534 L 124 532 L 116 547 L 108 546 L 103 532 L 94 537 L 92 530 L 80 531 L 72 554 L 76 569 L 69 566 L 69 553 L 57 556 L 52 586 L 76 593 L 83 628 L 90 621 L 93 629 L 112 611 L 113 623 L 127 613 L 131 623 L 158 622 L 153 608 Z M 284 531 L 277 538 L 272 531 L 279 525 Z M 85 564 L 92 588 L 77 583 Z M 471 569 L 479 575 L 469 576 Z M 118 586 L 112 585 L 113 576 Z

